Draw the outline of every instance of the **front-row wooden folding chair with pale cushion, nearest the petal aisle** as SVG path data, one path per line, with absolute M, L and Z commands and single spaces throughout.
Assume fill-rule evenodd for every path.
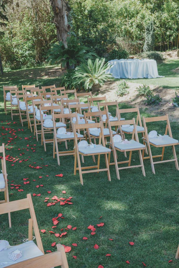
M 109 148 L 105 147 L 105 141 L 104 141 L 104 135 L 103 135 L 103 126 L 102 122 L 100 123 L 93 123 L 93 124 L 78 124 L 76 122 L 75 124 L 72 124 L 74 136 L 75 136 L 75 163 L 74 163 L 74 175 L 76 175 L 76 170 L 79 170 L 79 176 L 80 176 L 80 182 L 83 185 L 83 177 L 82 174 L 85 173 L 92 173 L 92 172 L 101 172 L 101 171 L 107 171 L 108 180 L 111 181 L 110 172 L 109 172 L 109 164 L 108 164 L 108 157 L 107 154 L 111 152 Z M 99 136 L 99 143 L 95 144 L 95 148 L 91 148 L 90 146 L 82 147 L 78 146 L 78 139 L 77 135 L 75 135 L 76 131 L 80 131 L 81 129 L 87 129 L 87 128 L 100 128 L 100 136 Z M 101 145 L 102 140 L 102 145 Z M 106 168 L 100 169 L 100 156 L 104 155 Z M 96 166 L 81 166 L 80 162 L 80 155 L 81 156 L 89 156 L 92 155 L 95 157 L 95 155 L 98 155 L 97 165 Z M 78 168 L 77 168 L 77 161 L 78 161 Z M 88 170 L 84 170 L 88 169 Z M 91 170 L 92 169 L 92 170 Z

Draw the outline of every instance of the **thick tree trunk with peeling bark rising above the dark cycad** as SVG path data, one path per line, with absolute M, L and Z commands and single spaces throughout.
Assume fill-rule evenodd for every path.
M 59 42 L 62 41 L 67 47 L 67 37 L 70 31 L 70 25 L 68 23 L 68 17 L 70 12 L 70 6 L 65 0 L 50 0 L 54 12 L 54 24 L 57 28 L 57 36 Z

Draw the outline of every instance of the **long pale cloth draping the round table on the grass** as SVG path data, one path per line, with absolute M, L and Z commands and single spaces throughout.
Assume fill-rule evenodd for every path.
M 154 59 L 144 60 L 112 60 L 108 64 L 113 66 L 107 70 L 114 78 L 157 78 L 164 77 L 158 75 L 157 63 Z

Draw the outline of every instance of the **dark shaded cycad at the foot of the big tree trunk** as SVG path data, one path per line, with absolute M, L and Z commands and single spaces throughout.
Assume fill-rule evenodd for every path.
M 96 53 L 88 52 L 89 48 L 79 44 L 74 36 L 67 38 L 67 47 L 62 42 L 54 44 L 49 51 L 48 60 L 52 64 L 62 64 L 62 67 L 67 66 L 68 69 L 74 69 L 76 64 L 85 62 L 88 58 L 97 57 Z

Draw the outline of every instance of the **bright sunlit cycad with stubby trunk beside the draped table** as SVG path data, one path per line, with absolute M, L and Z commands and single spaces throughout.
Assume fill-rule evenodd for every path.
M 87 64 L 77 66 L 73 76 L 74 85 L 84 83 L 85 90 L 99 91 L 106 81 L 114 80 L 111 73 L 106 73 L 112 65 L 104 62 L 105 58 L 97 58 L 94 64 L 91 59 L 88 59 Z

